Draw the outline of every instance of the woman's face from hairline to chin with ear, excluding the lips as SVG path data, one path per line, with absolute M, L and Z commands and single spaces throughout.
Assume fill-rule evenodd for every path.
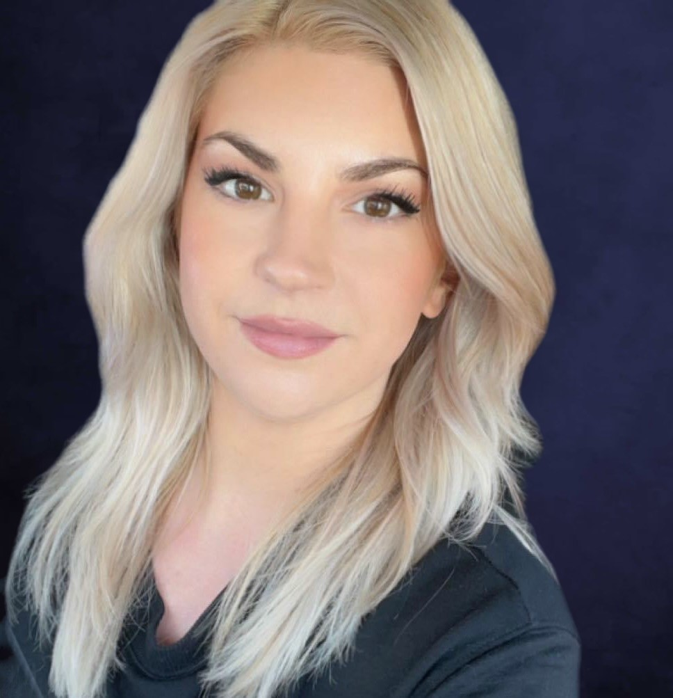
M 264 154 L 218 137 L 225 131 Z M 368 412 L 421 313 L 443 308 L 444 254 L 423 173 L 342 177 L 384 157 L 427 171 L 399 72 L 275 45 L 220 73 L 181 202 L 180 290 L 215 391 L 232 404 L 273 421 Z M 222 179 L 222 169 L 245 178 Z M 405 215 L 411 208 L 379 189 L 420 212 Z M 274 355 L 244 331 L 251 315 L 318 322 L 338 338 L 312 355 Z

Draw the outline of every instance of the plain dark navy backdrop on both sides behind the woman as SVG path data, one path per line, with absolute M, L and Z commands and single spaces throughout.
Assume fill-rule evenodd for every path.
M 513 105 L 557 281 L 522 387 L 545 439 L 527 502 L 582 637 L 582 695 L 673 695 L 673 5 L 455 5 Z M 84 230 L 207 6 L 0 6 L 0 577 L 22 490 L 100 394 Z

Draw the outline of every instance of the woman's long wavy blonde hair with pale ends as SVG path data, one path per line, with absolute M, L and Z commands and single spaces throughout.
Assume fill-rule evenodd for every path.
M 22 592 L 53 643 L 59 698 L 101 696 L 124 669 L 116 644 L 153 540 L 206 448 L 211 375 L 181 310 L 176 211 L 220 68 L 279 41 L 401 68 L 456 283 L 437 318 L 421 316 L 365 429 L 225 589 L 199 678 L 218 698 L 266 698 L 317 675 L 434 544 L 464 544 L 487 521 L 554 574 L 524 514 L 522 469 L 542 447 L 520 398 L 554 281 L 515 119 L 478 40 L 447 0 L 218 1 L 162 68 L 86 230 L 100 403 L 27 492 L 10 560 L 10 620 Z

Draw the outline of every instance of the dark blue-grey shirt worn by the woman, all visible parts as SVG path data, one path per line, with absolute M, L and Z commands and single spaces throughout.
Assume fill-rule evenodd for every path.
M 127 669 L 110 679 L 107 698 L 197 698 L 205 654 L 196 631 L 218 599 L 185 637 L 160 646 L 163 604 L 152 584 L 149 613 L 119 639 Z M 29 621 L 24 612 L 1 625 L 2 698 L 54 698 L 50 656 Z M 579 669 L 561 588 L 507 528 L 487 524 L 469 546 L 441 540 L 428 551 L 364 618 L 348 662 L 303 677 L 288 698 L 575 698 Z

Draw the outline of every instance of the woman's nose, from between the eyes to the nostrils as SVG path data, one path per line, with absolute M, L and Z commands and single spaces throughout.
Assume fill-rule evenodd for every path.
M 282 290 L 328 288 L 333 281 L 332 235 L 325 207 L 315 198 L 286 199 L 269 220 L 256 272 Z

